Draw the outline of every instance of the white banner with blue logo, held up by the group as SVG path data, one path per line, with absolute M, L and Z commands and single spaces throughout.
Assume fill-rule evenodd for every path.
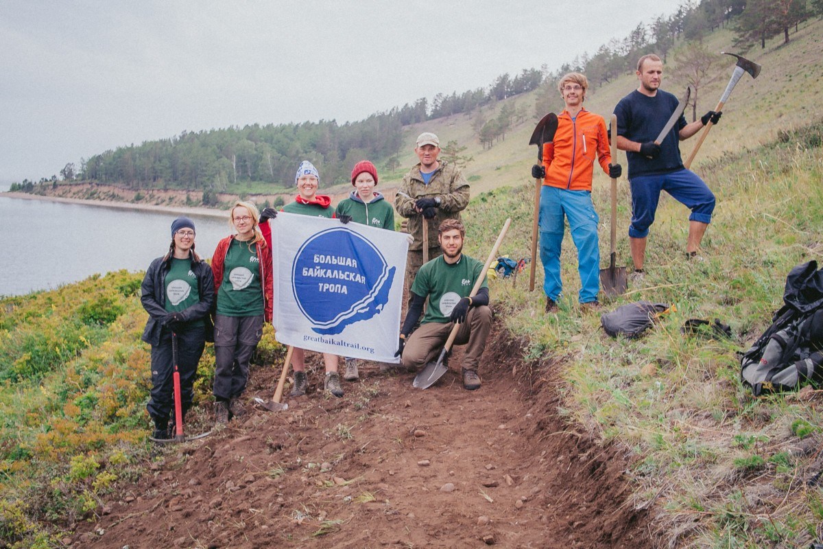
M 277 341 L 399 362 L 407 235 L 286 212 L 269 224 Z

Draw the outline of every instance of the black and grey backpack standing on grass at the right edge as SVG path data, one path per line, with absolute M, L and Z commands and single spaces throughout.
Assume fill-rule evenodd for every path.
M 823 380 L 823 269 L 802 263 L 786 278 L 783 307 L 741 354 L 740 376 L 755 396 Z

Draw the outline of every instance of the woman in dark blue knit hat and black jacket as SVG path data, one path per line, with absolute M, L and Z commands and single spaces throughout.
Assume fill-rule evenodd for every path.
M 149 314 L 142 340 L 151 344 L 151 398 L 146 404 L 155 430 L 151 438 L 174 436 L 169 425 L 174 407 L 174 354 L 183 415 L 194 396 L 194 376 L 207 341 L 213 341 L 209 311 L 214 303 L 212 268 L 194 252 L 194 223 L 178 217 L 171 224 L 169 251 L 151 262 L 140 288 L 140 301 Z

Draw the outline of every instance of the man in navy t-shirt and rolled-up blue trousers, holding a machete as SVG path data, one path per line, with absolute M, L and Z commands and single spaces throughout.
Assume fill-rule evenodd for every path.
M 694 172 L 683 167 L 679 141 L 688 139 L 709 120 L 718 123 L 721 113 L 710 110 L 700 120 L 686 123 L 681 116 L 662 142 L 655 143 L 669 117 L 677 109 L 677 97 L 660 90 L 663 62 L 657 55 L 644 55 L 637 63 L 640 86 L 621 99 L 617 115 L 617 148 L 626 151 L 629 161 L 632 216 L 629 226 L 634 281 L 642 281 L 646 237 L 654 222 L 660 192 L 666 191 L 691 210 L 686 258 L 695 258 L 700 240 L 714 212 L 714 194 Z

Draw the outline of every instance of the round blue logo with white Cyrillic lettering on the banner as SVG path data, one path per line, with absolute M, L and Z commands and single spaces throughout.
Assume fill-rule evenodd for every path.
M 291 268 L 291 289 L 314 332 L 341 333 L 383 309 L 395 270 L 364 236 L 336 227 L 300 247 Z

